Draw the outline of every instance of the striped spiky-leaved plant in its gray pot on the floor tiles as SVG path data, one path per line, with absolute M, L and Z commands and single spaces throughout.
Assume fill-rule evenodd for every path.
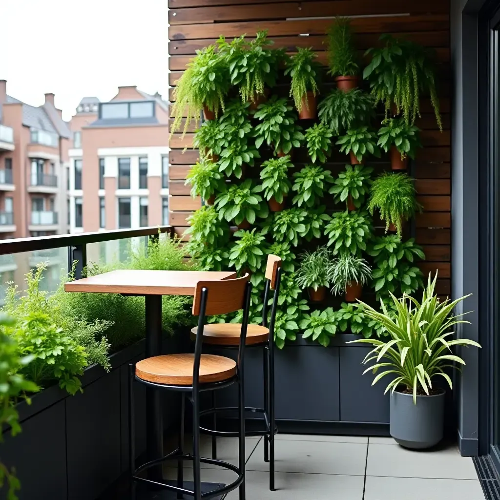
M 442 439 L 444 390 L 435 381 L 442 377 L 452 389 L 445 368 L 457 368 L 455 363 L 465 364 L 452 348 L 480 347 L 473 340 L 453 338 L 453 326 L 468 322 L 461 319 L 463 313 L 457 313 L 455 307 L 469 295 L 441 301 L 434 295 L 436 280 L 437 272 L 433 280 L 429 274 L 421 302 L 407 295 L 399 299 L 391 295 L 395 317 L 391 317 L 383 302 L 381 312 L 361 302 L 361 313 L 381 323 L 389 337 L 353 340 L 374 346 L 364 363 L 373 360 L 375 363 L 363 372 L 375 373 L 381 368 L 373 383 L 391 375 L 385 388 L 385 392 L 390 390 L 389 432 L 401 446 L 413 449 L 434 446 Z

